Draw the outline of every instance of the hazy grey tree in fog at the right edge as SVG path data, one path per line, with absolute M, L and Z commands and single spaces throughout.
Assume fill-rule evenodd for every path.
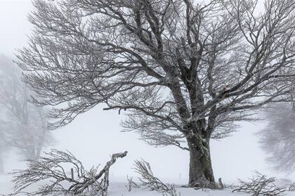
M 275 170 L 295 169 L 295 113 L 289 103 L 277 103 L 265 111 L 266 126 L 258 132 L 261 148 Z

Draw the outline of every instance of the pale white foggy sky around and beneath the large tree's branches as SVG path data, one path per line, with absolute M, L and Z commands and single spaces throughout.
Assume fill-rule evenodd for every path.
M 0 0 L 0 53 L 13 56 L 16 48 L 25 46 L 31 26 L 27 21 L 27 13 L 32 9 L 30 1 Z M 1 65 L 0 65 L 1 66 Z M 114 152 L 129 151 L 129 155 L 118 160 L 111 169 L 111 177 L 135 176 L 133 160 L 144 158 L 150 162 L 155 174 L 164 178 L 181 178 L 188 176 L 188 152 L 175 147 L 154 148 L 138 140 L 136 133 L 122 133 L 119 126 L 123 115 L 117 111 L 103 111 L 103 107 L 95 107 L 77 117 L 71 124 L 53 131 L 55 141 L 48 148 L 70 150 L 77 155 L 87 167 L 98 163 L 104 164 Z M 265 154 L 258 148 L 258 138 L 254 133 L 263 128 L 263 123 L 243 123 L 239 132 L 222 141 L 211 142 L 211 156 L 214 175 L 222 177 L 226 182 L 237 178 L 247 178 L 252 171 L 283 178 L 292 178 L 287 174 L 276 174 L 264 162 Z M 20 166 L 18 159 L 11 156 L 6 171 Z M 7 166 L 8 165 L 8 166 Z M 181 176 L 180 176 L 181 174 Z M 111 179 L 112 180 L 112 179 Z

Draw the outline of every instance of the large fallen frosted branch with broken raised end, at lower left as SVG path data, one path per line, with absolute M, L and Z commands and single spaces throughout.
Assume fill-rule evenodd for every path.
M 13 183 L 15 183 L 12 195 L 107 195 L 109 185 L 110 166 L 117 158 L 123 158 L 127 152 L 113 154 L 109 162 L 100 171 L 93 167 L 86 171 L 81 162 L 71 152 L 51 150 L 46 157 L 40 157 L 37 161 L 28 160 L 28 168 L 15 170 Z M 67 174 L 65 166 L 74 168 L 75 177 Z M 25 188 L 41 181 L 49 181 L 34 192 L 25 192 Z

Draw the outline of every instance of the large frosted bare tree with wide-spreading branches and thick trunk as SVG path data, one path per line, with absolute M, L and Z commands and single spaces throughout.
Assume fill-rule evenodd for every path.
M 126 131 L 190 152 L 191 186 L 214 183 L 211 138 L 291 101 L 294 1 L 34 1 L 23 79 L 51 127 L 103 103 Z

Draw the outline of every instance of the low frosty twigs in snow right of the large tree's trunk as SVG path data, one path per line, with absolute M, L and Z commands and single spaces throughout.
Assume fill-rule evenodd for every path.
M 232 192 L 247 192 L 252 196 L 264 195 L 264 196 L 281 196 L 286 195 L 287 189 L 285 187 L 279 187 L 275 185 L 276 178 L 265 176 L 255 171 L 255 176 L 249 178 L 249 182 L 240 181 L 240 187 L 232 190 Z

